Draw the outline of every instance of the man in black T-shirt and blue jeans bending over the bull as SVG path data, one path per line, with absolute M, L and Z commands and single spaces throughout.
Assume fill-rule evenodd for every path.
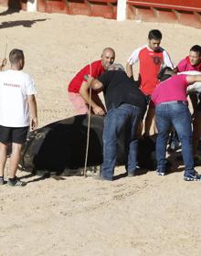
M 128 176 L 134 176 L 137 165 L 137 127 L 143 120 L 146 101 L 137 84 L 131 81 L 121 64 L 113 64 L 98 80 L 89 78 L 88 86 L 80 89 L 82 97 L 90 102 L 90 86 L 94 91 L 103 91 L 107 114 L 103 128 L 103 163 L 100 180 L 112 180 L 117 158 L 117 141 L 125 131 L 125 167 Z M 102 112 L 97 114 L 102 115 Z

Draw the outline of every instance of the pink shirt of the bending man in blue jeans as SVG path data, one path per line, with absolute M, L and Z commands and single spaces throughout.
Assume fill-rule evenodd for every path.
M 175 75 L 168 80 L 160 82 L 152 94 L 152 101 L 158 105 L 166 101 L 187 101 L 186 89 L 187 75 Z

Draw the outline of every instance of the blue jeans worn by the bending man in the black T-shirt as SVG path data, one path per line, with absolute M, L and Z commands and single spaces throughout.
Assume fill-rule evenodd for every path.
M 137 165 L 136 130 L 140 121 L 140 109 L 130 104 L 112 108 L 104 118 L 103 128 L 103 163 L 101 176 L 112 180 L 117 158 L 118 137 L 125 129 L 126 169 L 134 172 Z

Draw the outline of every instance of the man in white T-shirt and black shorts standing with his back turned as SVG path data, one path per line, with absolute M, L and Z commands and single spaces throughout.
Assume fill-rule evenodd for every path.
M 25 186 L 26 183 L 16 177 L 16 170 L 29 125 L 31 129 L 37 128 L 37 102 L 34 95 L 37 91 L 34 80 L 22 71 L 25 65 L 23 51 L 13 49 L 9 60 L 11 69 L 0 72 L 0 184 L 5 183 L 7 145 L 12 144 L 7 184 Z

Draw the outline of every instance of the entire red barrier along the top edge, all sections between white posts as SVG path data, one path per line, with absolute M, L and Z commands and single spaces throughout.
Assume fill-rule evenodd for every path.
M 0 0 L 26 10 L 27 0 Z M 37 0 L 37 11 L 116 18 L 117 0 Z M 127 0 L 127 18 L 201 27 L 201 0 Z

